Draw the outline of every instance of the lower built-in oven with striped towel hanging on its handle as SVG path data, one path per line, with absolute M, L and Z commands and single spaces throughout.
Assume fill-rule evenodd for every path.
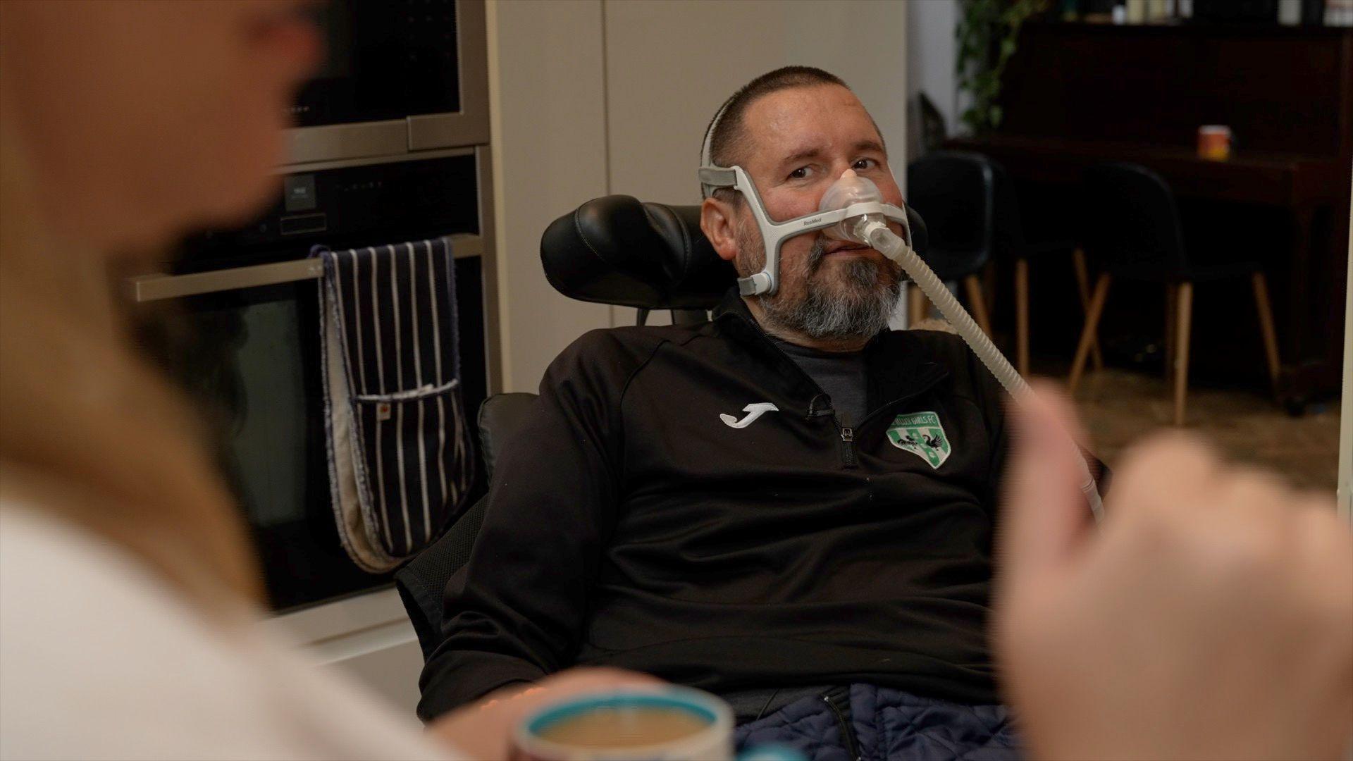
M 388 584 L 348 558 L 334 523 L 322 268 L 310 249 L 451 236 L 464 409 L 474 414 L 497 345 L 487 172 L 484 146 L 290 167 L 267 214 L 195 236 L 170 271 L 129 282 L 147 351 L 210 424 L 275 609 Z

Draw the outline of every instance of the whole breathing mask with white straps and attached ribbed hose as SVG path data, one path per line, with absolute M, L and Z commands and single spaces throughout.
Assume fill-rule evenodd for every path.
M 751 278 L 737 279 L 737 291 L 744 295 L 774 294 L 779 287 L 779 248 L 787 238 L 825 230 L 825 236 L 835 240 L 844 240 L 865 244 L 902 267 L 902 271 L 916 283 L 916 286 L 930 298 L 931 303 L 939 309 L 940 314 L 948 320 L 950 325 L 973 349 L 982 364 L 996 376 L 1005 390 L 1019 402 L 1032 397 L 1032 390 L 1019 371 L 1005 359 L 1005 355 L 996 348 L 990 337 L 973 321 L 967 310 L 958 303 L 954 294 L 944 283 L 921 261 L 921 257 L 912 249 L 911 226 L 907 222 L 907 211 L 884 203 L 878 187 L 869 179 L 861 177 L 851 169 L 846 169 L 840 177 L 823 194 L 823 200 L 817 204 L 815 214 L 806 214 L 785 222 L 771 222 L 766 214 L 766 204 L 762 203 L 756 186 L 741 167 L 714 167 L 709 161 L 709 141 L 714 134 L 714 127 L 723 111 L 714 116 L 714 122 L 705 133 L 705 145 L 701 150 L 700 183 L 701 194 L 709 196 L 716 188 L 735 188 L 752 210 L 756 225 L 760 227 L 762 240 L 766 245 L 766 265 Z M 898 222 L 902 226 L 902 236 L 897 236 L 888 226 L 888 221 Z M 1091 475 L 1089 464 L 1081 455 L 1078 447 L 1072 444 L 1077 460 L 1081 466 L 1081 493 L 1089 502 L 1096 520 L 1103 519 L 1104 502 L 1100 498 L 1099 487 Z

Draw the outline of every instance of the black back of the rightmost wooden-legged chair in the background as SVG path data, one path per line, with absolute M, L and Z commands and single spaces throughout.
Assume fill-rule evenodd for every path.
M 1174 194 L 1137 164 L 1099 164 L 1084 175 L 1085 253 L 1118 276 L 1161 279 L 1189 272 Z

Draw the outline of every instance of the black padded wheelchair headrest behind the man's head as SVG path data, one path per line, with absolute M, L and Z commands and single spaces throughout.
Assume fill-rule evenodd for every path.
M 917 253 L 925 223 L 907 217 Z M 628 195 L 589 200 L 540 237 L 549 284 L 568 298 L 640 309 L 712 309 L 737 274 L 700 229 L 700 206 L 644 203 Z

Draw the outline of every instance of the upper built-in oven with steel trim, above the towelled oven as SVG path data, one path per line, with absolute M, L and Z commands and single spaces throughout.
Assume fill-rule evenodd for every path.
M 488 142 L 484 0 L 330 0 L 325 62 L 296 96 L 291 162 Z

